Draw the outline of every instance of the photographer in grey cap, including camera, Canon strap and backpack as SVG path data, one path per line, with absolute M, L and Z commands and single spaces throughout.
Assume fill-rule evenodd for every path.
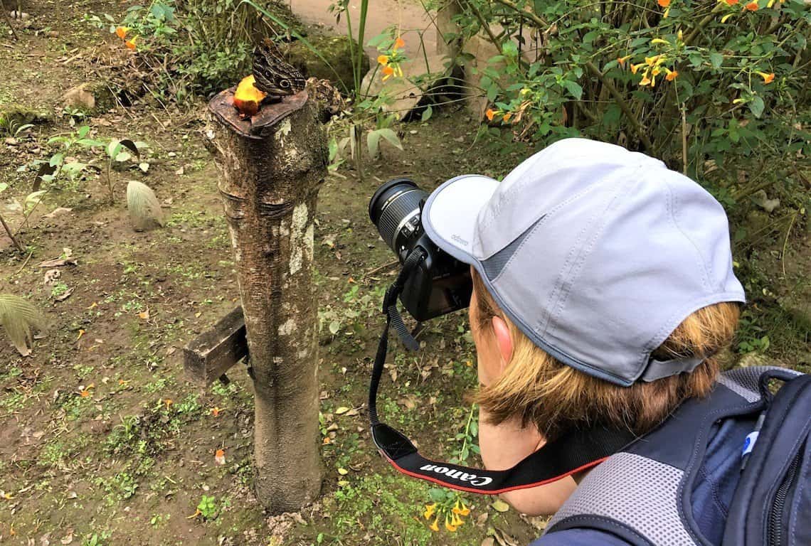
M 719 373 L 744 290 L 710 194 L 659 160 L 585 139 L 552 144 L 501 182 L 453 178 L 397 211 L 418 192 L 409 183 L 390 182 L 370 207 L 403 262 L 388 325 L 413 348 L 393 296 L 418 320 L 461 309 L 470 281 L 457 264 L 469 264 L 487 471 L 424 459 L 380 423 L 387 326 L 370 416 L 398 470 L 556 514 L 539 546 L 811 544 L 811 377 Z

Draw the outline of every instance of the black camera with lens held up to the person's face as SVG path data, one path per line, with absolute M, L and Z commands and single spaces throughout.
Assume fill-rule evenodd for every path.
M 422 249 L 425 258 L 406 280 L 400 301 L 418 322 L 470 305 L 473 284 L 470 266 L 440 250 L 423 229 L 423 205 L 428 193 L 409 178 L 394 178 L 380 186 L 369 201 L 369 218 L 400 263 Z

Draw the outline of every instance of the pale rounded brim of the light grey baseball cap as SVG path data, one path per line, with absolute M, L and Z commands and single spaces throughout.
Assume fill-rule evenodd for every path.
M 476 218 L 498 185 L 490 177 L 466 174 L 434 190 L 423 207 L 423 228 L 431 241 L 461 262 L 478 264 Z

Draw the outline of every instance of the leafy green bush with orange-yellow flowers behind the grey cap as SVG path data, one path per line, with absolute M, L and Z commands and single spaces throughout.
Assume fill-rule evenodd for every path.
M 487 66 L 457 60 L 481 77 L 487 133 L 624 143 L 705 181 L 775 161 L 766 176 L 784 178 L 811 152 L 801 0 L 461 3 L 461 37 L 489 29 L 500 49 Z

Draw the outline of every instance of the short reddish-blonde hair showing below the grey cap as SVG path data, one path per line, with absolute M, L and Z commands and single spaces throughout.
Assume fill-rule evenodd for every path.
M 518 418 L 523 426 L 534 424 L 550 440 L 565 430 L 594 424 L 643 434 L 684 399 L 706 396 L 719 373 L 718 352 L 732 343 L 740 314 L 737 304 L 727 302 L 690 314 L 653 356 L 659 360 L 704 356 L 702 364 L 693 373 L 624 387 L 582 373 L 543 351 L 504 315 L 475 271 L 473 278 L 477 326 L 491 328 L 491 318 L 500 317 L 513 339 L 513 356 L 504 373 L 490 386 L 482 386 L 473 401 L 493 424 Z

